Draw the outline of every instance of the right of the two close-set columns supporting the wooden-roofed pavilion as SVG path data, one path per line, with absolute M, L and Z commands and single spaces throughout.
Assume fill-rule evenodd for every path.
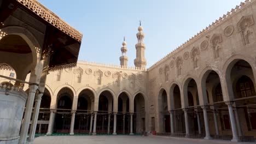
M 36 129 L 37 129 L 37 119 L 39 115 L 39 110 L 40 110 L 40 104 L 41 104 L 41 99 L 42 99 L 43 93 L 37 94 L 35 104 L 34 104 L 34 112 L 33 112 L 33 118 L 32 118 L 32 123 L 30 127 L 30 136 L 28 137 L 28 142 L 33 143 L 34 141 L 34 134 L 36 134 Z

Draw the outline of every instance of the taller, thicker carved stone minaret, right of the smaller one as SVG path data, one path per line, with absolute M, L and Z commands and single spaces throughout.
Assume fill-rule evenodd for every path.
M 146 68 L 147 59 L 145 58 L 145 44 L 143 43 L 144 40 L 144 33 L 143 27 L 141 26 L 141 21 L 139 21 L 138 33 L 136 34 L 138 43 L 135 45 L 136 47 L 136 58 L 134 59 L 135 67 L 138 68 Z

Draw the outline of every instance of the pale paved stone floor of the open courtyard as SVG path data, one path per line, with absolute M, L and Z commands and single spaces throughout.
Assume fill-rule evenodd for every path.
M 201 144 L 201 143 L 237 143 L 218 140 L 183 139 L 164 136 L 40 136 L 34 140 L 34 144 Z M 239 142 L 245 143 L 245 142 Z

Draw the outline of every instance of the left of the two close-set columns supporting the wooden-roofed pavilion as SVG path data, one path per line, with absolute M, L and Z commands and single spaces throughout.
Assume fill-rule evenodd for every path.
M 21 130 L 20 130 L 19 143 L 22 143 L 22 144 L 26 143 L 27 141 L 27 132 L 28 132 L 28 128 L 30 127 L 30 118 L 31 118 L 31 113 L 33 109 L 34 95 L 36 94 L 37 88 L 38 86 L 36 85 L 30 85 L 30 91 L 28 92 L 26 111 L 25 111 L 24 119 L 21 125 Z

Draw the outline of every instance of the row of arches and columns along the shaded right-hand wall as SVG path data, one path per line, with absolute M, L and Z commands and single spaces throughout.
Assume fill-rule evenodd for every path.
M 256 133 L 255 64 L 232 56 L 222 69 L 206 67 L 201 74 L 161 87 L 158 94 L 159 133 L 231 135 L 232 141 Z

